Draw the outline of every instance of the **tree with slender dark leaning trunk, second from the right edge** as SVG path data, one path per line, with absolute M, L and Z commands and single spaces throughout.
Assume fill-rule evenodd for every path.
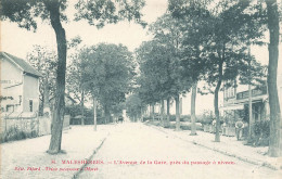
M 220 141 L 220 118 L 218 110 L 218 92 L 222 80 L 234 79 L 242 68 L 242 61 L 248 59 L 249 40 L 261 37 L 259 21 L 255 18 L 255 12 L 249 5 L 251 1 L 220 1 L 214 10 L 215 18 L 210 25 L 214 35 L 210 40 L 211 71 L 207 74 L 207 81 L 216 85 L 215 115 L 216 136 L 215 141 Z

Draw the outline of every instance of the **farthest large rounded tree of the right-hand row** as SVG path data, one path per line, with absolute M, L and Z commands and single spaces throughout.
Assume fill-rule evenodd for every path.
M 167 78 L 167 63 L 166 59 L 163 59 L 166 49 L 156 41 L 148 41 L 143 42 L 136 53 L 141 74 L 137 78 L 137 91 L 142 103 L 150 104 L 151 112 L 154 113 L 154 105 L 162 99 L 164 81 Z M 154 114 L 151 115 L 154 119 Z

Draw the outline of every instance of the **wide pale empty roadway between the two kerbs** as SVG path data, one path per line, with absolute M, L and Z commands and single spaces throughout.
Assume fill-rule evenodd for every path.
M 279 178 L 279 171 L 184 142 L 142 124 L 116 125 L 92 161 L 102 164 L 88 164 L 79 179 Z

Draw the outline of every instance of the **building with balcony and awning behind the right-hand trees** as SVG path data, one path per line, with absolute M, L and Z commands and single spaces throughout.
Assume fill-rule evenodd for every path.
M 223 90 L 223 106 L 220 107 L 221 114 L 236 122 L 239 117 L 248 123 L 248 86 L 238 85 Z M 278 76 L 278 93 L 282 97 L 282 76 Z M 252 87 L 252 122 L 260 122 L 269 118 L 269 99 L 267 81 L 260 87 Z

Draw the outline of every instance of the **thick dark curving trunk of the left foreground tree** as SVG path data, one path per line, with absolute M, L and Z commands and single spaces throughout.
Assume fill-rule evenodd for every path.
M 63 117 L 65 107 L 65 71 L 66 71 L 66 37 L 60 21 L 60 2 L 43 1 L 50 12 L 51 25 L 55 31 L 57 44 L 57 69 L 55 106 L 51 127 L 51 140 L 48 153 L 56 154 L 61 151 Z

